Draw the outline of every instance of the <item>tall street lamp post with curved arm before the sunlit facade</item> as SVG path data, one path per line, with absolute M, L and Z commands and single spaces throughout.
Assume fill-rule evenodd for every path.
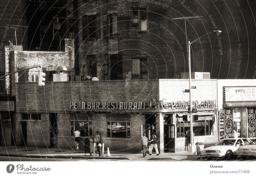
M 213 32 L 209 32 L 206 33 L 204 35 L 202 35 L 201 37 L 208 35 L 210 33 L 213 34 L 220 34 L 221 31 L 220 30 L 215 30 Z M 198 39 L 200 39 L 201 37 L 199 37 Z M 192 118 L 192 100 L 191 100 L 191 63 L 190 63 L 190 46 L 192 43 L 196 42 L 198 39 L 196 39 L 193 42 L 188 41 L 188 72 L 189 72 L 189 109 L 190 109 L 190 143 L 191 143 L 191 147 L 189 148 L 189 152 L 194 153 L 196 151 L 196 149 L 193 147 L 194 145 L 194 138 L 193 138 L 193 118 Z

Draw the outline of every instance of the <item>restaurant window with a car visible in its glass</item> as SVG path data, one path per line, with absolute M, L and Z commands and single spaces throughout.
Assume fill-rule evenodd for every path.
M 109 138 L 130 138 L 131 119 L 129 115 L 107 115 L 107 136 Z

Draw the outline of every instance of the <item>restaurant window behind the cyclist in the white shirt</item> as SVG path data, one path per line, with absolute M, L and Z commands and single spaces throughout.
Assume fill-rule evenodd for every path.
M 70 135 L 75 136 L 74 132 L 79 129 L 80 136 L 92 136 L 92 121 L 87 116 L 72 116 L 70 118 Z

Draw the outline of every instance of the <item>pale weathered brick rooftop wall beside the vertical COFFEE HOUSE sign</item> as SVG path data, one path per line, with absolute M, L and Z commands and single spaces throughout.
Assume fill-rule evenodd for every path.
M 67 72 L 71 75 L 74 68 L 74 41 L 65 39 L 65 51 L 49 52 L 49 51 L 19 51 L 18 53 L 11 52 L 11 60 L 15 60 L 15 67 L 12 65 L 12 70 L 19 70 L 23 67 L 32 65 L 42 65 L 43 71 L 46 73 L 45 80 L 52 81 L 52 73 L 59 66 L 66 66 Z M 14 63 L 14 62 L 12 62 Z M 32 68 L 29 71 L 23 71 L 12 75 L 15 81 L 31 81 L 31 73 L 38 72 L 39 68 Z

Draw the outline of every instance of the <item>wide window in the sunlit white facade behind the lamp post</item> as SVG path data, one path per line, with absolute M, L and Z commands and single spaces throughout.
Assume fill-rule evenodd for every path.
M 179 118 L 182 119 L 182 118 Z M 185 137 L 186 131 L 190 130 L 190 121 L 177 122 L 177 138 Z M 193 121 L 195 136 L 213 135 L 213 121 L 211 115 L 198 115 L 198 120 Z

